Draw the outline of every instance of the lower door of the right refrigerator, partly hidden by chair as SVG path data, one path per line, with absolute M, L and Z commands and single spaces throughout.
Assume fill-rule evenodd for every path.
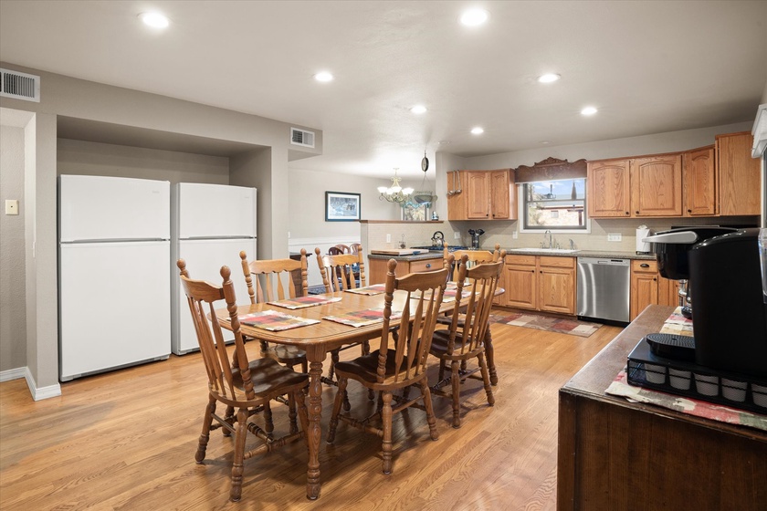
M 176 355 L 183 355 L 188 351 L 199 349 L 199 345 L 175 261 L 179 258 L 184 259 L 190 277 L 207 280 L 216 286 L 220 286 L 223 280 L 221 278 L 221 266 L 229 266 L 229 269 L 232 270 L 232 282 L 235 283 L 237 304 L 245 305 L 250 303 L 250 298 L 247 295 L 245 276 L 242 275 L 242 259 L 239 256 L 241 250 L 245 250 L 247 253 L 248 261 L 255 259 L 256 239 L 182 240 L 173 248 L 173 279 L 171 280 L 173 283 L 171 290 L 173 334 L 171 344 L 173 353 Z M 221 307 L 225 307 L 223 302 Z M 225 331 L 225 335 L 229 336 L 225 339 L 227 341 L 235 339 L 230 332 Z

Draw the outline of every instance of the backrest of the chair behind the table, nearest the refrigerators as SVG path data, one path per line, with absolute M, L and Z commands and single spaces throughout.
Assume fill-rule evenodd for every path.
M 309 294 L 305 248 L 301 248 L 301 258 L 298 261 L 294 259 L 262 259 L 248 263 L 247 254 L 244 250 L 240 252 L 240 259 L 242 259 L 242 273 L 245 275 L 250 303 L 282 300 L 286 297 L 306 297 Z M 296 287 L 293 280 L 293 276 L 296 275 L 294 272 L 300 272 L 300 288 Z M 255 290 L 254 276 L 256 280 Z M 285 295 L 286 287 L 288 289 L 287 296 Z

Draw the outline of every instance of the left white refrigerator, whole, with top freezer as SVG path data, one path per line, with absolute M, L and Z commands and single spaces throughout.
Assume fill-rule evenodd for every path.
M 167 359 L 170 183 L 58 179 L 59 379 Z

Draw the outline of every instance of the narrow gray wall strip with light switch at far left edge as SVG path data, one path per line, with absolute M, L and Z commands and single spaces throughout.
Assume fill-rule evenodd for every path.
M 24 128 L 0 124 L 0 147 L 0 204 L 20 205 L 0 214 L 0 370 L 11 370 L 26 366 Z

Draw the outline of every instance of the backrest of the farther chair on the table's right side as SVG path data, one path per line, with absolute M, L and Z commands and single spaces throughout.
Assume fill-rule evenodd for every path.
M 456 308 L 453 310 L 450 337 L 447 342 L 449 354 L 464 354 L 482 346 L 489 328 L 490 308 L 493 306 L 493 297 L 498 288 L 505 259 L 506 251 L 501 250 L 497 261 L 469 266 L 468 256 L 461 256 L 456 279 Z M 467 281 L 471 282 L 471 287 L 468 289 L 471 293 L 462 299 L 464 283 Z

